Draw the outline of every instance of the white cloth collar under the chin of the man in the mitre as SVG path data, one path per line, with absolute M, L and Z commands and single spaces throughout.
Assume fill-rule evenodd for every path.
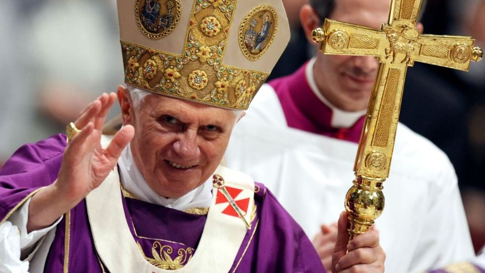
M 120 178 L 123 188 L 142 201 L 182 211 L 192 208 L 208 208 L 211 205 L 211 178 L 180 198 L 165 198 L 148 186 L 147 181 L 133 160 L 129 144 L 121 153 L 118 166 L 120 168 Z

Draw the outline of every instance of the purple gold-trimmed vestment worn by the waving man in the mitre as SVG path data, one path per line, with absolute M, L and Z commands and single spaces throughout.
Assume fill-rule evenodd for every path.
M 30 193 L 53 183 L 65 147 L 65 136 L 55 135 L 21 147 L 6 162 L 0 170 L 0 219 Z M 263 185 L 257 186 L 260 190 L 254 197 L 257 209 L 252 229 L 248 230 L 230 272 L 325 272 L 300 226 Z M 197 251 L 207 215 L 127 197 L 123 197 L 123 207 L 131 234 L 147 259 L 161 266 L 173 265 L 174 260 L 184 265 Z M 70 211 L 69 226 L 69 271 L 102 272 L 104 265 L 93 245 L 84 200 Z M 57 226 L 44 272 L 63 271 L 65 231 L 66 218 Z

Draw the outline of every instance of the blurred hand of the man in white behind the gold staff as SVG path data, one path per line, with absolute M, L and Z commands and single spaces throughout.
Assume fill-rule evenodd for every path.
M 332 269 L 332 253 L 337 241 L 337 223 L 331 225 L 322 224 L 320 226 L 320 233 L 315 235 L 312 244 L 317 250 L 323 267 L 330 272 Z

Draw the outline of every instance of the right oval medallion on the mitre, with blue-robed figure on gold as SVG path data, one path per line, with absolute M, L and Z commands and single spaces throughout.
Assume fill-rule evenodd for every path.
M 261 58 L 273 43 L 277 27 L 276 11 L 270 6 L 258 6 L 246 15 L 239 27 L 239 46 L 246 58 Z

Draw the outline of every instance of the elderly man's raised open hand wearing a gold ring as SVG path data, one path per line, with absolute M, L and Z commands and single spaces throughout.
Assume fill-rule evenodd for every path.
M 116 166 L 118 157 L 134 135 L 131 125 L 118 131 L 111 144 L 101 147 L 106 115 L 116 94 L 103 94 L 84 109 L 74 122 L 80 132 L 67 144 L 58 179 L 36 193 L 29 205 L 27 230 L 50 225 L 101 185 Z

